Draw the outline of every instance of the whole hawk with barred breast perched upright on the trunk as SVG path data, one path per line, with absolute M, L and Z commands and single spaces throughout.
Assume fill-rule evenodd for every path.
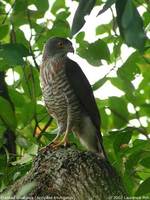
M 74 133 L 87 150 L 107 159 L 92 87 L 68 53 L 74 53 L 72 42 L 62 37 L 49 38 L 43 48 L 41 90 L 47 111 L 58 125 L 57 135 L 50 145 L 65 146 L 68 135 Z

